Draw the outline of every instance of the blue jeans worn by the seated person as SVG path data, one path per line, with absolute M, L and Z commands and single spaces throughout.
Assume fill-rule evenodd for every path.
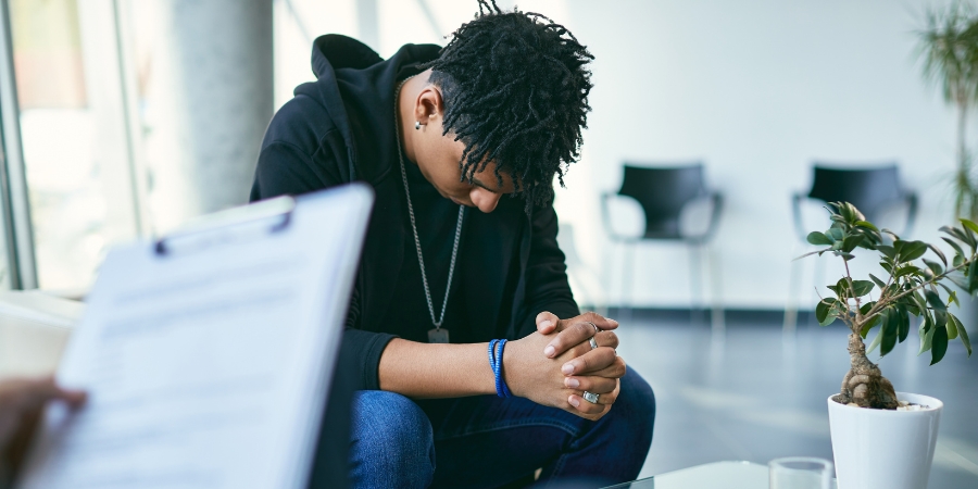
M 655 398 L 634 371 L 614 408 L 590 422 L 523 398 L 412 401 L 379 390 L 353 401 L 354 488 L 499 487 L 532 480 L 632 480 L 652 444 Z

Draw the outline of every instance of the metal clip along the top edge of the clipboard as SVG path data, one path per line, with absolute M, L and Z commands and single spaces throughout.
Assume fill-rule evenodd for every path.
M 291 196 L 280 196 L 218 211 L 191 220 L 166 236 L 158 238 L 153 243 L 153 251 L 156 255 L 165 256 L 173 253 L 175 241 L 229 228 L 252 227 L 249 225 L 261 225 L 265 221 L 273 221 L 266 228 L 267 233 L 277 233 L 289 226 L 294 210 L 296 199 Z

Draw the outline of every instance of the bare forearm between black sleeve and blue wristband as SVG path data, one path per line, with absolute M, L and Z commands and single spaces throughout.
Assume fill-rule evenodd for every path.
M 409 398 L 496 393 L 488 343 L 429 344 L 396 338 L 380 355 L 380 389 Z

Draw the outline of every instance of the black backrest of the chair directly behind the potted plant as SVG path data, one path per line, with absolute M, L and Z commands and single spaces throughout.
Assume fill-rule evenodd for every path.
M 887 205 L 903 199 L 906 193 L 900 185 L 895 163 L 863 168 L 815 163 L 814 171 L 810 198 L 850 202 L 869 221 L 879 218 Z

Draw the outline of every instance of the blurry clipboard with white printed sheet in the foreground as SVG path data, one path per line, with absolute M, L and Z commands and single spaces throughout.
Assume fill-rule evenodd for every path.
M 373 190 L 208 216 L 113 249 L 15 487 L 304 488 Z

